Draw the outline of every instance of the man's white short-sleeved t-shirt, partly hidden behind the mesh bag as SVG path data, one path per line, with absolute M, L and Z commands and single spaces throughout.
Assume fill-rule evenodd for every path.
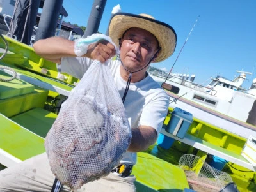
M 61 59 L 61 72 L 81 79 L 88 70 L 91 59 L 86 57 L 65 57 Z M 108 61 L 120 96 L 124 95 L 127 82 L 120 76 L 120 61 Z M 125 98 L 124 107 L 131 128 L 151 126 L 157 134 L 163 126 L 168 111 L 169 96 L 149 75 L 140 82 L 131 83 Z M 121 163 L 134 165 L 136 152 L 125 152 Z

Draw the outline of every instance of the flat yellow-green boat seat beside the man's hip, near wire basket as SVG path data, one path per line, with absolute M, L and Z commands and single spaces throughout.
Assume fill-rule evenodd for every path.
M 189 188 L 182 168 L 172 165 L 147 152 L 138 152 L 137 163 L 132 169 L 136 176 L 135 186 L 140 192 L 183 191 Z

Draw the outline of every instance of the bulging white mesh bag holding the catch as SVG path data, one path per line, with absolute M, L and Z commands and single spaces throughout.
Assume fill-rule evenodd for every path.
M 45 138 L 51 170 L 62 184 L 79 189 L 108 175 L 130 142 L 131 128 L 109 67 L 95 61 Z

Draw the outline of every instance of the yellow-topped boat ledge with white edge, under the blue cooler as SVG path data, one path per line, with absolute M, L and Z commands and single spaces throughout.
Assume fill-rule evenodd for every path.
M 202 138 L 195 137 L 189 133 L 186 133 L 184 138 L 179 138 L 174 136 L 172 133 L 168 133 L 164 128 L 161 129 L 161 134 L 165 135 L 166 137 L 178 140 L 184 144 L 188 144 L 192 147 L 195 147 L 196 149 L 200 149 L 201 151 L 207 152 L 214 156 L 218 156 L 219 158 L 230 161 L 236 165 L 240 165 L 244 168 L 248 168 L 249 170 L 256 171 L 256 168 L 252 165 L 252 163 L 248 162 L 243 156 L 241 156 L 241 154 L 237 154 L 236 152 L 232 152 L 218 145 L 211 144 Z

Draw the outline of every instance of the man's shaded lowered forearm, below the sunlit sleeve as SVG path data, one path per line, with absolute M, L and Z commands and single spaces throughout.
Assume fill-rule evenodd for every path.
M 139 126 L 132 129 L 132 140 L 127 151 L 139 152 L 148 149 L 157 139 L 157 132 L 150 126 Z

